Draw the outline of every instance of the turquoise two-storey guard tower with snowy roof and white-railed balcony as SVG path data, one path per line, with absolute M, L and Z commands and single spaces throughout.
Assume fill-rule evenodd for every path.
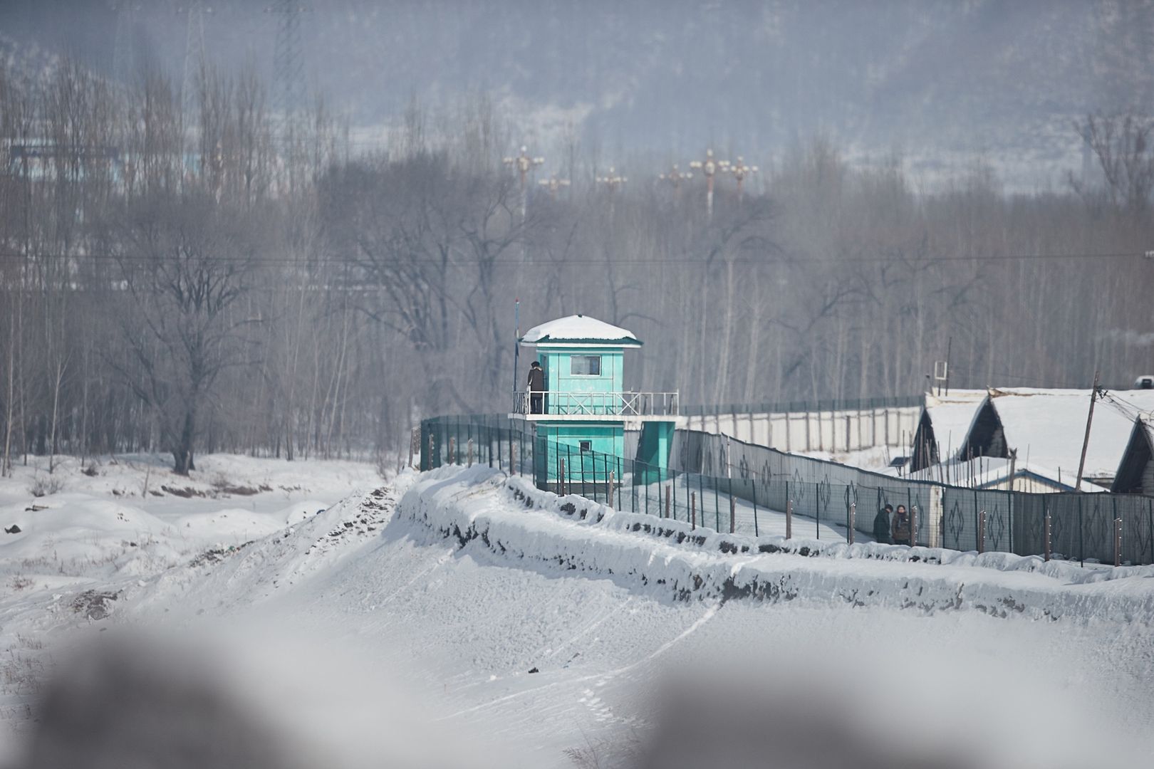
M 533 424 L 538 487 L 555 485 L 562 459 L 567 475 L 579 472 L 590 481 L 605 481 L 602 476 L 615 472 L 606 457 L 622 458 L 619 482 L 624 473 L 668 468 L 679 419 L 677 393 L 625 391 L 624 352 L 642 346 L 632 332 L 571 315 L 530 329 L 518 344 L 535 348 L 535 360 L 545 370 L 539 413 L 533 413 L 532 394 L 518 390 L 510 415 Z M 640 465 L 627 462 L 635 459 L 625 457 L 627 429 L 640 430 L 636 457 Z

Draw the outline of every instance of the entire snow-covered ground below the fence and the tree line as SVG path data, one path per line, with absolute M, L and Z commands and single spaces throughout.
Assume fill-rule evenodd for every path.
M 91 640 L 142 626 L 173 651 L 134 664 L 185 680 L 207 655 L 304 766 L 614 766 L 657 740 L 652 766 L 837 766 L 834 748 L 900 766 L 865 760 L 884 748 L 1121 767 L 1152 747 L 1154 567 L 695 531 L 480 467 L 384 484 L 352 463 L 200 462 L 204 493 L 272 490 L 153 497 L 178 481 L 143 459 L 57 470 L 42 498 L 0 484 L 22 529 L 0 540 L 13 751 L 44 671 L 72 656 L 99 681 L 117 668 Z M 68 744 L 52 723 L 42 742 Z

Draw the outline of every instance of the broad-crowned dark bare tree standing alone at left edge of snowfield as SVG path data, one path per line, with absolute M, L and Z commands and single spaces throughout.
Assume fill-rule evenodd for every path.
M 255 279 L 253 235 L 207 193 L 134 203 L 117 234 L 133 304 L 120 311 L 127 355 L 111 361 L 156 414 L 173 469 L 187 475 L 218 377 L 255 360 L 246 334 L 254 321 L 234 311 Z

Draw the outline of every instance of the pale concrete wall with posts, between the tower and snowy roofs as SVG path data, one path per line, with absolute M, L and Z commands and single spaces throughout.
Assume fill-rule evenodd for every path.
M 920 414 L 921 406 L 852 412 L 706 414 L 685 417 L 685 427 L 779 451 L 846 452 L 908 446 Z M 900 451 L 899 455 L 904 453 Z

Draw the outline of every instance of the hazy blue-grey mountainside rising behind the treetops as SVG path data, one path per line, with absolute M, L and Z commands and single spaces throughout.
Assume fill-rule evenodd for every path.
M 205 2 L 209 60 L 271 75 L 271 2 Z M 110 73 L 120 40 L 179 80 L 187 5 L 8 0 L 0 29 Z M 1149 1 L 313 0 L 301 17 L 308 85 L 354 123 L 484 91 L 526 140 L 572 122 L 616 156 L 764 160 L 823 130 L 928 169 L 977 153 L 1029 184 L 1077 165 L 1077 115 L 1154 100 Z

